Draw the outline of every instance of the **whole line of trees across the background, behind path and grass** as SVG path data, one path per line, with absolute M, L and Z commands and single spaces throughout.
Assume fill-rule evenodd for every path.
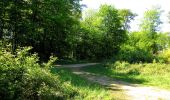
M 137 14 L 129 9 L 101 5 L 82 17 L 81 0 L 1 0 L 0 39 L 18 46 L 32 46 L 41 59 L 53 53 L 59 58 L 119 59 L 129 62 L 155 59 L 170 44 L 161 33 L 161 9 L 144 13 L 140 30 L 131 32 Z

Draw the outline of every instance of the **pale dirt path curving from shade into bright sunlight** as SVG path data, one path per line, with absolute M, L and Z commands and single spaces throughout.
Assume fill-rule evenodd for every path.
M 62 66 L 65 68 L 71 68 L 74 74 L 85 77 L 89 81 L 104 85 L 106 88 L 112 90 L 113 93 L 114 91 L 124 91 L 126 97 L 123 100 L 170 100 L 170 91 L 155 87 L 144 87 L 137 84 L 130 84 L 107 76 L 96 75 L 81 70 L 81 67 L 96 64 L 97 63 L 87 63 Z

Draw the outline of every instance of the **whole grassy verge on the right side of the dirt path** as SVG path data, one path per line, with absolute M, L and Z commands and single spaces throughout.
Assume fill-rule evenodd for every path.
M 83 70 L 133 84 L 170 89 L 169 64 L 129 64 L 126 62 L 116 62 L 114 64 L 84 67 Z

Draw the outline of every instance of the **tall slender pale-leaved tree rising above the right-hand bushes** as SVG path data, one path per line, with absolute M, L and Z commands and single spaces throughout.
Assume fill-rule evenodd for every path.
M 157 40 L 157 32 L 160 30 L 160 24 L 162 23 L 160 20 L 161 16 L 160 8 L 154 7 L 150 10 L 147 10 L 144 13 L 144 18 L 140 24 L 141 32 L 146 36 L 148 45 L 148 50 L 151 50 L 153 54 L 157 53 L 158 45 L 156 43 Z

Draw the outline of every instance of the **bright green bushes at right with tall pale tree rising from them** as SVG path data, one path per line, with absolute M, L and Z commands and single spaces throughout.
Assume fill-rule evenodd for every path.
M 129 33 L 128 41 L 121 46 L 118 60 L 135 62 L 152 62 L 156 53 L 167 45 L 168 36 L 158 33 L 161 11 L 153 8 L 144 13 L 140 32 Z M 166 42 L 165 42 L 166 41 Z

